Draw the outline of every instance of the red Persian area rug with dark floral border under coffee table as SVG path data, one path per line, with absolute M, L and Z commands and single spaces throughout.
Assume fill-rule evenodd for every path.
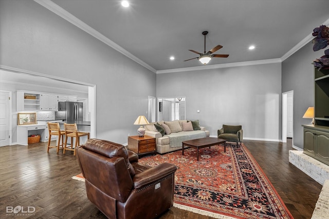
M 148 166 L 175 164 L 174 207 L 214 218 L 293 218 L 263 170 L 242 144 L 188 148 L 139 158 Z M 84 181 L 82 174 L 73 176 Z

